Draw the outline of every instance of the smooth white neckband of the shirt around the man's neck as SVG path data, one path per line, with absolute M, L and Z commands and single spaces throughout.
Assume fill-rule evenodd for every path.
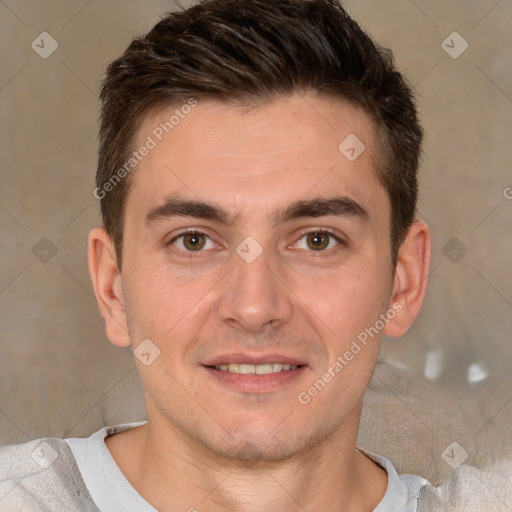
M 82 478 L 101 512 L 158 512 L 132 487 L 112 458 L 105 437 L 129 430 L 146 422 L 105 427 L 86 438 L 68 438 Z M 382 466 L 388 474 L 384 498 L 374 512 L 417 512 L 420 490 L 429 482 L 414 475 L 398 475 L 391 462 L 359 448 Z

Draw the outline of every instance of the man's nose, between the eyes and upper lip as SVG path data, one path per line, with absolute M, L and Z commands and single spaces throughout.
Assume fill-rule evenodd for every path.
M 254 261 L 239 254 L 233 259 L 234 268 L 221 291 L 220 319 L 253 333 L 288 322 L 293 315 L 292 292 L 270 251 L 264 249 Z

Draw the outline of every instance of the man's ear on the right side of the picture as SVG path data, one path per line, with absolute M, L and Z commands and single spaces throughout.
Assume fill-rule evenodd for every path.
M 427 291 L 430 253 L 430 232 L 427 225 L 424 222 L 414 222 L 398 253 L 390 303 L 390 307 L 397 314 L 386 324 L 386 336 L 402 336 L 418 316 Z

